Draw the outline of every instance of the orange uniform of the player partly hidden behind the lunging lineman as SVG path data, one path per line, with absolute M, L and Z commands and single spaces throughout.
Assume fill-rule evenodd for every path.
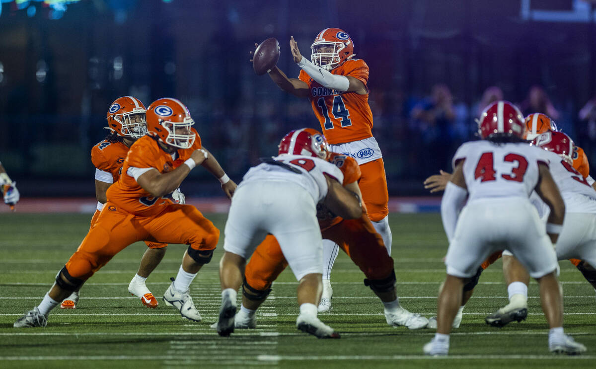
M 120 178 L 120 174 L 122 174 L 122 165 L 126 153 L 128 153 L 128 146 L 122 142 L 109 142 L 104 139 L 91 149 L 91 162 L 95 168 L 111 173 L 113 178 L 112 183 L 116 183 L 118 178 Z M 97 210 L 95 210 L 93 218 L 91 218 L 90 230 L 95 224 L 95 221 L 97 221 L 98 216 L 100 216 L 101 209 L 103 208 L 103 204 L 101 206 L 100 204 L 98 203 Z M 167 246 L 167 243 L 148 241 L 145 241 L 145 243 L 150 249 L 162 249 Z

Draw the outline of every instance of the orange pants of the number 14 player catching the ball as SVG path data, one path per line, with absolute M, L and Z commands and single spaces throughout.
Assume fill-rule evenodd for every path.
M 383 159 L 373 160 L 360 166 L 362 173 L 358 187 L 362 192 L 362 200 L 367 207 L 368 218 L 378 222 L 389 213 L 389 193 Z

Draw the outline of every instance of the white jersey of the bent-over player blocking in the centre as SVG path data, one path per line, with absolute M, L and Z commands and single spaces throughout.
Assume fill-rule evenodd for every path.
M 318 157 L 282 154 L 272 159 L 281 165 L 262 163 L 250 168 L 238 187 L 252 181 L 294 182 L 305 188 L 315 203 L 318 203 L 327 196 L 327 179 L 324 174 L 336 178 L 340 183 L 343 182 L 342 170 Z M 299 172 L 293 172 L 290 168 Z

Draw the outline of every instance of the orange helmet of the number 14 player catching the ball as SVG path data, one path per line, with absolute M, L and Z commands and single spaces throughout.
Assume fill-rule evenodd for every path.
M 312 63 L 327 70 L 356 55 L 352 39 L 339 28 L 326 28 L 316 35 L 311 52 Z

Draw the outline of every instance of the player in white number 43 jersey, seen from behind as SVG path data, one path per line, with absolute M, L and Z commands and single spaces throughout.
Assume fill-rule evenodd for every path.
M 449 240 L 447 277 L 437 304 L 437 333 L 424 345 L 427 355 L 448 354 L 449 331 L 460 307 L 464 279 L 473 276 L 487 256 L 502 249 L 513 252 L 540 284 L 551 328 L 550 351 L 586 351 L 563 332 L 563 298 L 552 244 L 563 228 L 565 204 L 552 179 L 548 156 L 527 145 L 524 131 L 519 109 L 498 101 L 480 116 L 482 140 L 466 142 L 455 153 L 454 174 L 441 202 Z M 550 207 L 546 231 L 529 201 L 533 190 Z

